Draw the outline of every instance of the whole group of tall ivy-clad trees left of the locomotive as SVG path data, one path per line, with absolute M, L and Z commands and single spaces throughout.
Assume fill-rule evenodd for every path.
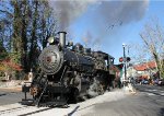
M 56 19 L 47 0 L 0 0 L 0 48 L 24 72 L 37 67 L 39 49 L 55 34 Z

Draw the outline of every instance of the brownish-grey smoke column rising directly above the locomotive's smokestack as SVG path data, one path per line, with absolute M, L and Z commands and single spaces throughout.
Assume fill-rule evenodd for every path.
M 54 9 L 55 16 L 58 18 L 59 30 L 67 30 L 74 20 L 82 15 L 89 4 L 95 0 L 49 0 L 50 7 Z

